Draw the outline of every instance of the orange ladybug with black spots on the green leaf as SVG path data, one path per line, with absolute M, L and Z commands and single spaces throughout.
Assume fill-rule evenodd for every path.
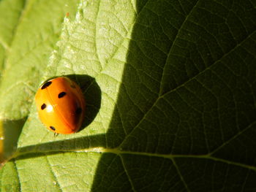
M 85 100 L 80 87 L 67 77 L 45 82 L 36 94 L 37 112 L 54 134 L 73 134 L 80 128 Z

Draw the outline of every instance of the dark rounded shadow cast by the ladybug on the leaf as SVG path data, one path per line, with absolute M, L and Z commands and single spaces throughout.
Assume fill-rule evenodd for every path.
M 102 100 L 102 91 L 100 90 L 99 85 L 97 84 L 94 77 L 89 75 L 69 74 L 65 75 L 65 77 L 69 77 L 69 79 L 76 82 L 83 91 L 83 96 L 86 101 L 86 112 L 82 126 L 79 130 L 82 131 L 84 128 L 91 124 L 99 112 Z

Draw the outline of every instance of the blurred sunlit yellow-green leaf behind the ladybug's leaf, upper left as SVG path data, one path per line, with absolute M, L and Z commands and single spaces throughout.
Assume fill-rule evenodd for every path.
M 21 2 L 23 1 L 18 4 Z M 12 38 L 12 45 L 8 54 L 4 55 L 4 69 L 1 72 L 2 119 L 17 120 L 29 114 L 35 90 L 39 85 L 38 77 L 42 76 L 50 53 L 59 39 L 64 15 L 67 10 L 72 15 L 76 2 L 26 1 L 24 5 L 21 4 L 23 7 L 20 5 L 17 8 L 20 18 L 18 23 L 14 23 L 14 34 L 9 37 Z M 1 4 L 3 9 L 7 9 L 8 4 L 17 3 L 5 0 Z

